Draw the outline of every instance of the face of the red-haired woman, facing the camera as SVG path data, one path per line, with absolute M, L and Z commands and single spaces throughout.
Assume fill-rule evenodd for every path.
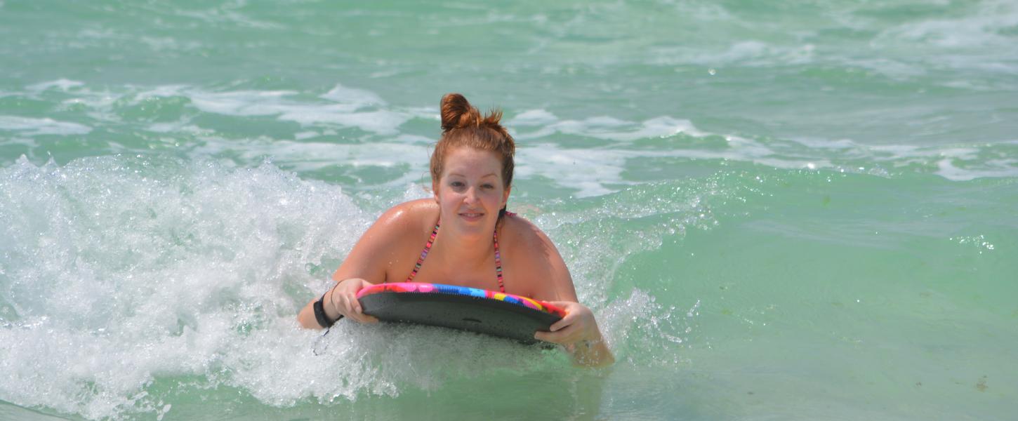
M 503 185 L 502 163 L 495 153 L 466 146 L 450 151 L 441 178 L 432 184 L 442 225 L 452 224 L 464 234 L 491 235 L 499 211 L 509 200 L 510 189 Z

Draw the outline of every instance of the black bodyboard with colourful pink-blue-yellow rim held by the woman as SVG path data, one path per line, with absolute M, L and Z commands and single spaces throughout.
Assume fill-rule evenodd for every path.
M 393 283 L 357 292 L 364 314 L 379 320 L 442 326 L 535 344 L 565 310 L 514 294 L 455 285 Z

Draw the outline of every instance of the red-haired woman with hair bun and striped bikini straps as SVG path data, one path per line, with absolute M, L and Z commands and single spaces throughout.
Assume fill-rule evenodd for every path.
M 577 364 L 614 361 L 593 313 L 577 302 L 555 245 L 533 224 L 505 211 L 515 144 L 499 124 L 501 117 L 498 111 L 482 117 L 459 94 L 442 98 L 443 133 L 431 162 L 434 197 L 383 214 L 333 275 L 336 285 L 300 310 L 303 327 L 323 328 L 340 316 L 377 322 L 356 299 L 357 291 L 371 285 L 458 285 L 551 302 L 567 315 L 535 339 L 564 345 Z

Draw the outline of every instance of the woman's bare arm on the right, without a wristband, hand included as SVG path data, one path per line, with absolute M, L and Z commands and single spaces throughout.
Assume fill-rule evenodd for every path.
M 532 227 L 532 225 L 531 225 Z M 576 289 L 565 261 L 555 248 L 551 239 L 536 227 L 532 227 L 534 242 L 528 247 L 539 255 L 532 256 L 541 262 L 535 268 L 549 280 L 546 291 L 535 296 L 545 299 L 553 305 L 566 310 L 566 316 L 551 326 L 551 332 L 538 332 L 533 338 L 565 346 L 577 365 L 603 367 L 615 362 L 612 351 L 608 349 L 598 320 L 589 308 L 579 303 Z

